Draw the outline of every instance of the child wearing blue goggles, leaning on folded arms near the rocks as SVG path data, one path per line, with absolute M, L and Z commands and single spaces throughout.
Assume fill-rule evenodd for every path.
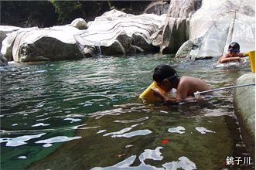
M 227 54 L 220 57 L 217 63 L 240 62 L 241 57 L 244 57 L 244 53 L 240 53 L 240 46 L 237 42 L 231 42 L 227 52 Z

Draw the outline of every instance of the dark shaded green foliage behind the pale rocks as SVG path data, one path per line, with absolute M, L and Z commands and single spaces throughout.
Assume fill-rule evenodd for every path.
M 111 9 L 141 14 L 150 1 L 0 1 L 1 25 L 49 27 L 69 24 L 73 19 L 94 20 Z

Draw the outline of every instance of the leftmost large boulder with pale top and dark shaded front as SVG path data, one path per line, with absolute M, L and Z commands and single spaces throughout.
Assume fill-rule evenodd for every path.
M 73 35 L 79 29 L 72 26 L 19 29 L 5 38 L 1 53 L 15 62 L 56 61 L 84 57 Z

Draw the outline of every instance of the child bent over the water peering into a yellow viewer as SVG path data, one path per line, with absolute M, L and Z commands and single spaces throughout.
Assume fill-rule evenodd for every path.
M 155 97 L 167 103 L 177 103 L 182 101 L 196 100 L 194 93 L 196 91 L 210 90 L 207 83 L 191 76 L 178 76 L 172 66 L 162 64 L 155 68 L 153 80 L 164 91 L 170 91 L 172 88 L 177 90 L 176 98 L 166 97 L 158 88 L 151 88 Z

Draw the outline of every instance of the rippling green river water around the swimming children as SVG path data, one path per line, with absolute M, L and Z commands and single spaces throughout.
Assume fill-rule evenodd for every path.
M 249 63 L 212 66 L 216 61 L 145 54 L 9 63 L 0 68 L 1 168 L 253 169 L 232 89 L 178 105 L 138 98 L 161 63 L 211 89 L 251 72 Z

